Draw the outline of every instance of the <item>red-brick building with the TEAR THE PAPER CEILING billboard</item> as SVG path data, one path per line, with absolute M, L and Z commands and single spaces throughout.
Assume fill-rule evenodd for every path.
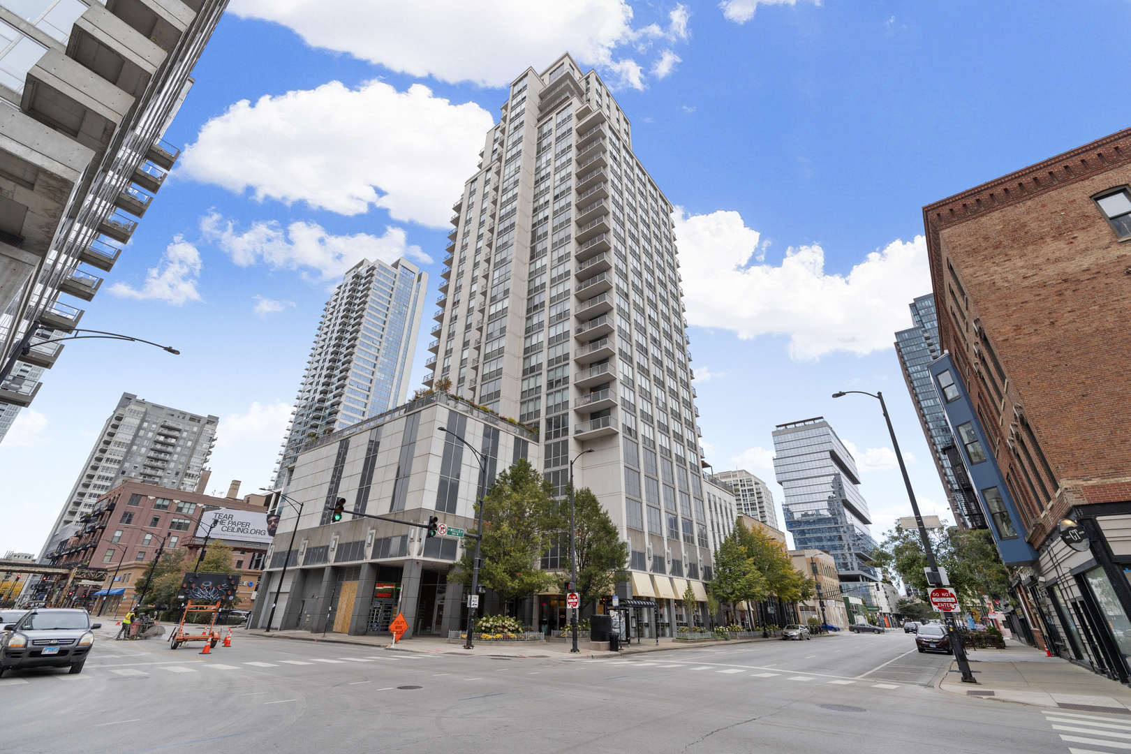
M 135 603 L 133 584 L 153 563 L 163 540 L 164 552 L 185 547 L 195 555 L 204 541 L 197 537 L 198 525 L 208 511 L 230 509 L 266 515 L 271 496 L 247 495 L 238 500 L 239 484 L 232 483 L 228 497 L 143 482 L 123 482 L 106 492 L 83 517 L 83 528 L 48 554 L 51 565 L 84 564 L 106 572 L 101 584 L 75 588 L 74 597 L 64 600 L 67 605 L 86 606 L 104 615 L 124 615 Z M 249 607 L 269 539 L 256 541 L 218 534 L 214 530 L 211 539 L 232 547 L 232 565 L 240 572 L 239 605 Z M 49 584 L 43 588 L 52 593 Z

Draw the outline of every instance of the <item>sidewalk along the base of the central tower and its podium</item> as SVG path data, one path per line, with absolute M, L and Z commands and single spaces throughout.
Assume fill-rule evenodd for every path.
M 387 649 L 391 651 L 399 652 L 416 652 L 421 655 L 465 655 L 465 656 L 483 656 L 483 657 L 533 657 L 533 658 L 560 658 L 564 656 L 580 657 L 580 658 L 610 658 L 610 657 L 623 657 L 628 655 L 644 655 L 648 652 L 667 651 L 673 649 L 693 649 L 693 648 L 705 648 L 705 647 L 719 647 L 719 645 L 733 645 L 733 644 L 745 644 L 759 641 L 780 641 L 780 639 L 735 639 L 731 641 L 697 641 L 697 642 L 676 642 L 674 639 L 661 639 L 659 643 L 656 643 L 655 639 L 646 639 L 642 643 L 633 643 L 631 647 L 625 645 L 620 652 L 603 652 L 594 649 L 589 649 L 588 639 L 578 639 L 578 649 L 580 652 L 578 655 L 571 655 L 570 648 L 572 643 L 570 641 L 556 642 L 546 641 L 543 642 L 513 642 L 513 643 L 489 643 L 485 641 L 475 642 L 475 647 L 472 649 L 464 649 L 460 643 L 448 643 L 448 640 L 443 636 L 413 636 L 412 639 L 405 639 L 404 641 L 397 642 L 396 647 L 391 645 L 389 636 L 351 636 L 348 634 L 342 633 L 327 633 L 323 638 L 322 634 L 312 634 L 309 631 L 271 631 L 266 633 L 261 629 L 251 629 L 244 631 L 242 629 L 236 630 L 233 633 L 233 640 L 241 636 L 254 636 L 259 639 L 291 639 L 294 641 L 313 641 L 313 642 L 326 642 L 334 644 L 356 644 L 362 647 L 372 647 L 373 649 Z

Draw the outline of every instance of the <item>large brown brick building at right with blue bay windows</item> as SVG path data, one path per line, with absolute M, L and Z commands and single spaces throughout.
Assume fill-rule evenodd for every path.
M 1129 184 L 1125 130 L 923 208 L 943 349 L 929 370 L 985 526 L 1018 566 L 1011 622 L 1123 683 Z M 1086 540 L 1070 547 L 1065 529 Z

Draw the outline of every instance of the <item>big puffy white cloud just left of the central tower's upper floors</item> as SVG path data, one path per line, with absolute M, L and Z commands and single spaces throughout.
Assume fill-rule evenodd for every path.
M 340 215 L 383 207 L 394 219 L 440 227 L 493 124 L 474 102 L 454 105 L 420 84 L 397 92 L 381 81 L 357 89 L 330 81 L 241 99 L 204 124 L 180 165 L 260 201 Z

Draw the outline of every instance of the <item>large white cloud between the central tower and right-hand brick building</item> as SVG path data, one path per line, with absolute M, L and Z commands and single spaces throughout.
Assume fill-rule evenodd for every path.
M 788 335 L 795 359 L 890 348 L 907 324 L 907 302 L 931 287 L 922 236 L 893 241 L 841 276 L 824 271 L 815 244 L 789 248 L 779 266 L 751 263 L 759 233 L 735 211 L 688 217 L 680 209 L 675 226 L 688 321 L 743 339 Z

